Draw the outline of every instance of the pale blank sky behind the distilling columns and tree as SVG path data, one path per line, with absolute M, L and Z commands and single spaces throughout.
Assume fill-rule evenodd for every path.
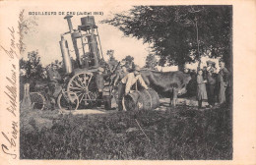
M 96 20 L 96 26 L 98 27 L 98 33 L 101 42 L 101 49 L 104 56 L 104 59 L 107 60 L 106 51 L 109 49 L 114 50 L 114 57 L 121 61 L 125 56 L 131 55 L 134 57 L 135 64 L 143 67 L 145 65 L 145 60 L 149 54 L 149 44 L 143 44 L 142 40 L 138 40 L 134 37 L 127 37 L 123 35 L 123 32 L 116 27 L 99 24 L 100 21 L 111 17 L 114 13 L 120 13 L 128 11 L 131 9 L 131 6 L 113 6 L 112 8 L 102 8 L 100 5 L 94 6 L 92 10 L 91 6 L 79 8 L 63 8 L 61 11 L 65 11 L 65 15 L 56 15 L 56 16 L 29 16 L 29 12 L 41 12 L 36 7 L 27 9 L 25 14 L 27 18 L 35 17 L 38 24 L 33 30 L 35 32 L 30 32 L 26 35 L 24 42 L 27 45 L 27 50 L 25 56 L 28 52 L 33 50 L 38 50 L 38 53 L 41 57 L 42 66 L 46 66 L 55 60 L 61 61 L 62 55 L 60 51 L 59 41 L 61 33 L 69 31 L 67 21 L 64 20 L 67 12 L 103 12 L 102 16 L 94 15 Z M 56 11 L 56 8 L 49 8 L 48 11 Z M 58 13 L 58 11 L 56 11 Z M 72 20 L 73 28 L 77 28 L 81 25 L 80 19 L 84 16 L 74 15 Z M 65 38 L 69 42 L 69 49 L 71 50 L 71 56 L 75 57 L 73 44 L 71 42 L 70 34 L 65 35 Z M 81 47 L 80 45 L 78 46 Z M 202 66 L 206 65 L 208 58 L 202 58 Z M 214 60 L 218 65 L 218 60 Z M 196 69 L 197 64 L 188 64 L 187 68 Z M 177 66 L 171 67 L 158 67 L 159 70 L 166 71 L 177 71 Z M 219 68 L 218 68 L 219 70 Z

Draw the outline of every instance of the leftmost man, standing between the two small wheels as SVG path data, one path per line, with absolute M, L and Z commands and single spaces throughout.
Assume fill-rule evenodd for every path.
M 51 69 L 48 70 L 48 81 L 49 83 L 49 90 L 50 90 L 50 102 L 51 102 L 51 108 L 55 108 L 56 101 L 61 86 L 59 85 L 59 81 L 61 80 L 60 74 L 57 71 L 57 65 L 54 64 Z

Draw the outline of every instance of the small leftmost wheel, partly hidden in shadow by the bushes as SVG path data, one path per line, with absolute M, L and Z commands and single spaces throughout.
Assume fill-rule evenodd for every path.
M 32 109 L 43 110 L 46 104 L 44 96 L 39 92 L 31 92 Z

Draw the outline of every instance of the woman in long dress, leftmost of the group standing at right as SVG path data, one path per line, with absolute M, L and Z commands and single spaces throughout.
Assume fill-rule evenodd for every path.
M 203 100 L 207 100 L 207 91 L 206 91 L 206 83 L 203 79 L 203 71 L 198 71 L 197 76 L 197 99 L 198 99 L 198 108 L 202 108 Z

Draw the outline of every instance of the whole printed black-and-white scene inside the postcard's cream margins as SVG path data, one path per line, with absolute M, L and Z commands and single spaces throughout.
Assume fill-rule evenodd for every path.
M 22 11 L 20 158 L 232 159 L 232 6 L 101 13 Z

